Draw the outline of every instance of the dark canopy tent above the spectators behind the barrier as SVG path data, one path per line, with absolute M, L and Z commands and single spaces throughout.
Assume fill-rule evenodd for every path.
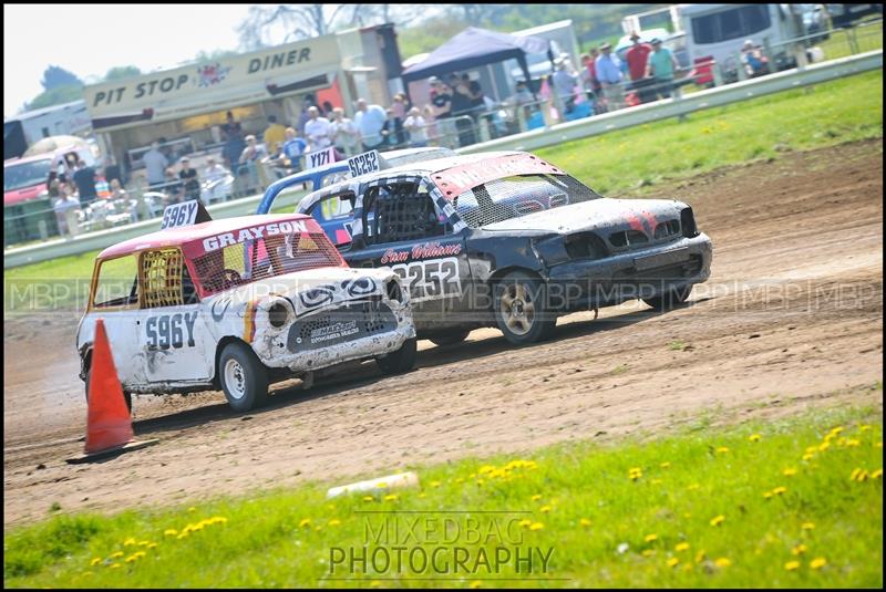
M 497 33 L 476 27 L 468 27 L 454 38 L 450 39 L 427 58 L 403 71 L 403 84 L 410 82 L 442 76 L 450 72 L 467 70 L 505 60 L 516 59 L 523 70 L 526 83 L 529 84 L 529 67 L 526 64 L 527 53 L 547 52 L 548 59 L 554 62 L 550 52 L 550 42 L 538 37 L 517 37 L 508 33 Z M 529 85 L 532 89 L 532 85 Z M 535 92 L 533 92 L 533 95 Z

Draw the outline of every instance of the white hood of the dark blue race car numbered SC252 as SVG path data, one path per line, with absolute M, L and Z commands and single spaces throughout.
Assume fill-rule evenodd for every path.
M 655 226 L 658 221 L 680 218 L 686 204 L 672 199 L 612 199 L 601 197 L 581 204 L 560 206 L 526 214 L 483 227 L 492 232 L 558 232 L 568 235 L 579 230 L 610 229 L 617 227 Z

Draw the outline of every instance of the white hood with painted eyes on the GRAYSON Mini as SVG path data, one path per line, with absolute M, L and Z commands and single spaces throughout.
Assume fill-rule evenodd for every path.
M 300 315 L 341 302 L 384 295 L 385 283 L 395 278 L 389 269 L 311 269 L 257 280 L 214 294 L 204 302 L 215 310 L 225 303 L 269 305 L 276 298 L 284 298 Z

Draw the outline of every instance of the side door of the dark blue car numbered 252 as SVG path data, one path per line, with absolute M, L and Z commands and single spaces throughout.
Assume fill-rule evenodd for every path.
M 382 178 L 361 187 L 354 209 L 351 267 L 390 267 L 409 287 L 419 331 L 470 324 L 471 269 L 465 233 L 455 231 L 429 186 Z

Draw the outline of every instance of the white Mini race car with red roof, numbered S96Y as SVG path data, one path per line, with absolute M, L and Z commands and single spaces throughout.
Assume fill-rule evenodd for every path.
M 102 251 L 76 336 L 87 385 L 96 319 L 127 403 L 222 388 L 247 411 L 275 380 L 372 357 L 404 372 L 415 359 L 400 277 L 350 269 L 297 214 L 173 227 Z

